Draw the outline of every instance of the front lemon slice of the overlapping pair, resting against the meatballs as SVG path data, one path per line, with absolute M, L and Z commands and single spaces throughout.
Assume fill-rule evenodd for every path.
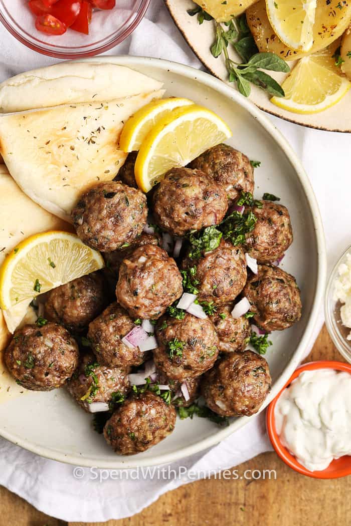
M 143 141 L 135 162 L 135 179 L 148 192 L 170 168 L 185 166 L 208 148 L 222 143 L 232 132 L 207 108 L 177 108 L 159 120 Z

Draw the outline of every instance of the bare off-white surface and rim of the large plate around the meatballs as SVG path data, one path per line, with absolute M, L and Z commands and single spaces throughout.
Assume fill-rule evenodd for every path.
M 99 60 L 111 59 L 99 57 Z M 302 289 L 303 316 L 296 326 L 272 335 L 273 346 L 267 359 L 273 387 L 265 407 L 302 358 L 324 293 L 323 228 L 307 176 L 287 141 L 268 119 L 220 80 L 165 60 L 137 57 L 114 57 L 113 60 L 161 80 L 166 95 L 188 97 L 222 116 L 233 130 L 229 144 L 262 163 L 255 170 L 255 196 L 260 198 L 265 191 L 274 193 L 290 211 L 295 241 L 282 267 L 296 276 Z M 0 436 L 43 457 L 102 468 L 172 462 L 213 446 L 247 421 L 248 418 L 232 419 L 229 427 L 218 428 L 206 419 L 178 419 L 173 434 L 156 447 L 133 457 L 120 457 L 93 431 L 92 417 L 79 408 L 64 389 L 29 393 L 0 404 Z

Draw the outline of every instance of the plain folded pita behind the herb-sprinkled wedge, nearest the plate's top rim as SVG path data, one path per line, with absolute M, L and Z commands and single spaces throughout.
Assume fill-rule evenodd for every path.
M 0 113 L 106 102 L 161 89 L 162 83 L 109 62 L 66 62 L 21 73 L 0 84 Z

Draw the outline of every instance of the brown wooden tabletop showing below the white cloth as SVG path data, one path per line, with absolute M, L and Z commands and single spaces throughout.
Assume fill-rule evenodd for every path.
M 339 360 L 324 327 L 307 358 Z M 166 493 L 138 515 L 108 526 L 346 526 L 351 511 L 348 477 L 315 480 L 289 469 L 275 453 L 263 453 L 238 466 L 276 470 L 276 480 L 202 480 Z M 83 526 L 47 517 L 0 488 L 0 526 Z M 99 523 L 101 524 L 101 523 Z

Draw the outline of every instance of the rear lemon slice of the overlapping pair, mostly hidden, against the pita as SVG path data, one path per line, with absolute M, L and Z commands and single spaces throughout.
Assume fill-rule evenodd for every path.
M 138 150 L 145 137 L 160 119 L 173 109 L 190 104 L 194 104 L 192 100 L 178 97 L 153 100 L 146 104 L 127 120 L 119 138 L 119 148 L 126 152 Z

